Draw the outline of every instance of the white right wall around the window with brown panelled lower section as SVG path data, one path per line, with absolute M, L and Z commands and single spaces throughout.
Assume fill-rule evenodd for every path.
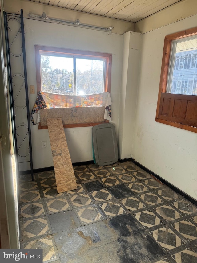
M 132 157 L 197 199 L 197 134 L 155 122 L 164 36 L 196 27 L 196 15 L 142 35 Z

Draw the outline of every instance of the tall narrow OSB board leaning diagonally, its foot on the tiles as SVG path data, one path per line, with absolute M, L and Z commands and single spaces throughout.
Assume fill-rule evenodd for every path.
M 77 189 L 61 118 L 47 119 L 58 193 Z

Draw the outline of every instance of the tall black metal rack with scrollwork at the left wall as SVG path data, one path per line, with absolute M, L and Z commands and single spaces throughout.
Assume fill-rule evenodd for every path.
M 12 39 L 12 41 L 10 42 L 9 39 L 9 30 L 11 31 L 11 28 L 8 25 L 8 22 L 10 21 L 10 19 L 15 19 L 20 23 L 20 28 L 16 34 L 16 36 L 14 37 L 14 39 Z M 24 21 L 23 21 L 23 10 L 21 9 L 20 14 L 11 14 L 11 13 L 5 13 L 4 12 L 4 22 L 5 22 L 5 32 L 6 32 L 6 53 L 7 53 L 7 66 L 8 66 L 8 82 L 9 82 L 9 95 L 10 95 L 10 107 L 11 107 L 11 118 L 12 118 L 12 129 L 13 129 L 13 141 L 14 141 L 14 153 L 15 153 L 15 157 L 16 157 L 16 162 L 17 162 L 17 172 L 19 174 L 19 164 L 20 163 L 25 163 L 25 162 L 30 162 L 30 172 L 31 172 L 31 179 L 32 181 L 34 180 L 34 175 L 33 175 L 33 161 L 32 161 L 32 145 L 31 145 L 31 127 L 30 127 L 30 109 L 29 109 L 29 97 L 28 97 L 28 84 L 27 84 L 27 69 L 26 69 L 26 51 L 25 51 L 25 31 L 24 31 Z M 18 23 L 16 22 L 16 23 Z M 21 54 L 13 54 L 10 51 L 10 47 L 14 44 L 14 41 L 16 39 L 16 37 L 18 36 L 18 34 L 21 33 L 21 41 L 22 41 L 22 53 Z M 18 44 L 18 43 L 16 43 Z M 13 46 L 12 46 L 13 47 Z M 16 58 L 19 57 L 23 57 L 23 72 L 20 73 L 16 73 L 14 75 L 12 75 L 12 64 L 11 64 L 11 56 L 14 56 Z M 20 62 L 19 62 L 20 63 Z M 17 96 L 19 95 L 19 92 L 17 94 L 16 97 L 14 97 L 14 92 L 13 92 L 13 77 L 15 76 L 20 76 L 22 78 L 24 78 L 24 83 L 22 85 L 22 87 L 20 88 L 19 92 L 25 92 L 25 98 L 26 98 L 26 105 L 25 107 L 19 109 L 16 107 L 16 105 L 14 104 Z M 24 123 L 24 125 L 22 124 L 17 124 L 16 123 L 16 111 L 19 110 L 23 110 L 26 108 L 26 123 Z M 20 134 L 18 134 L 17 129 L 20 127 L 24 126 L 27 129 L 27 133 L 24 136 L 24 138 L 21 139 L 21 143 L 17 143 L 17 136 L 20 137 Z M 26 137 L 28 134 L 28 150 L 29 153 L 25 156 L 22 156 L 19 154 L 19 149 L 22 146 L 22 144 L 24 143 Z M 19 138 L 18 137 L 18 138 Z M 19 161 L 19 157 L 20 159 L 22 158 L 26 158 L 27 156 L 29 156 L 29 160 L 20 160 Z

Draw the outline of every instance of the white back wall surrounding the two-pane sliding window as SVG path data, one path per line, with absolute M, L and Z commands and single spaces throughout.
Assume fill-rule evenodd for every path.
M 119 91 L 121 85 L 123 36 L 54 23 L 25 19 L 25 42 L 28 86 L 36 88 L 34 45 L 65 47 L 87 51 L 112 53 L 111 100 L 112 123 L 118 135 Z M 32 110 L 37 94 L 29 94 Z M 91 127 L 65 129 L 72 162 L 93 160 Z M 33 168 L 53 166 L 48 130 L 38 130 L 31 124 Z M 41 141 L 46 141 L 42 148 Z M 23 169 L 28 169 L 24 167 Z

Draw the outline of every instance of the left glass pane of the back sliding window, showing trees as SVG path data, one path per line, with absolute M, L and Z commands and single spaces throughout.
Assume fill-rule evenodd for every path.
M 74 95 L 73 58 L 41 55 L 42 91 Z

